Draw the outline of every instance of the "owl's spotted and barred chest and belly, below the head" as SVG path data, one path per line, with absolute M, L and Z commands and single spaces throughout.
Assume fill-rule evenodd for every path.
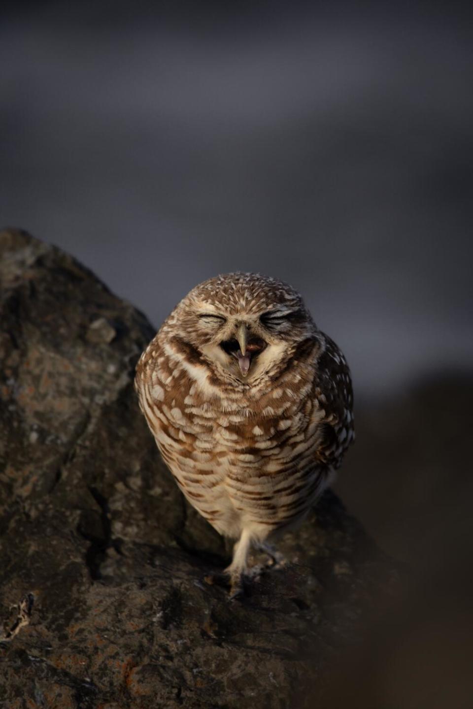
M 330 366 L 307 357 L 259 384 L 228 386 L 168 356 L 159 337 L 145 352 L 137 389 L 148 425 L 179 488 L 221 533 L 238 537 L 250 524 L 263 538 L 320 495 L 348 443 L 334 386 L 346 382 Z

